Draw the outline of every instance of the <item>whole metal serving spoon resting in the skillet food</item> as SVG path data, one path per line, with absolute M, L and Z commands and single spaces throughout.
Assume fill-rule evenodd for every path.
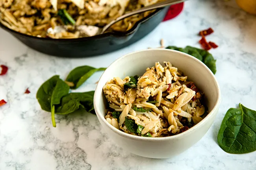
M 174 4 L 179 4 L 181 2 L 185 2 L 187 0 L 165 0 L 164 2 L 159 2 L 156 4 L 152 4 L 150 6 L 146 6 L 134 11 L 131 11 L 130 13 L 126 13 L 118 18 L 116 18 L 115 20 L 112 20 L 111 22 L 109 22 L 109 24 L 107 24 L 106 26 L 104 26 L 103 28 L 97 27 L 97 26 L 88 26 L 88 25 L 80 25 L 80 26 L 75 26 L 74 30 L 72 31 L 79 31 L 82 35 L 82 37 L 92 37 L 95 35 L 100 35 L 103 34 L 106 30 L 108 30 L 109 27 L 111 27 L 113 24 L 115 24 L 116 22 L 130 17 L 132 15 L 135 14 L 139 14 L 139 13 L 143 13 L 146 11 L 150 11 L 152 9 L 157 9 L 157 8 L 161 8 L 161 7 L 165 7 L 165 6 L 170 6 L 170 5 L 174 5 Z M 48 28 L 48 30 L 46 31 L 46 35 L 50 38 L 54 39 L 54 36 L 56 33 L 60 33 L 62 31 L 67 31 L 68 27 L 67 26 L 55 26 L 54 28 Z

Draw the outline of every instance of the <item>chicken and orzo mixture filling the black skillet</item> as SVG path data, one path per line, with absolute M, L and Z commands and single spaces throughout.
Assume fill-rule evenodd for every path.
M 56 38 L 79 38 L 72 26 L 93 25 L 103 27 L 129 11 L 154 4 L 160 0 L 0 0 L 0 22 L 8 28 L 46 37 L 46 30 L 68 25 Z M 108 31 L 127 31 L 152 11 L 125 18 Z

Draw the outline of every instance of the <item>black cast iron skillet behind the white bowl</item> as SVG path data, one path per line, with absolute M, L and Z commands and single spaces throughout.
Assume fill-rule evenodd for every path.
M 150 33 L 165 17 L 169 7 L 156 9 L 147 17 L 139 20 L 132 29 L 124 33 L 105 33 L 93 37 L 79 39 L 50 39 L 39 38 L 19 33 L 4 26 L 0 22 L 0 27 L 10 32 L 21 42 L 39 52 L 55 55 L 59 57 L 89 57 L 106 54 L 120 48 L 124 48 L 145 35 Z

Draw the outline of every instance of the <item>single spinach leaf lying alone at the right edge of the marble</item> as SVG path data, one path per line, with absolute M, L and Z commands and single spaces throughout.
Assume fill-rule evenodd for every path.
M 218 133 L 219 146 L 228 153 L 256 151 L 256 111 L 244 107 L 228 109 Z

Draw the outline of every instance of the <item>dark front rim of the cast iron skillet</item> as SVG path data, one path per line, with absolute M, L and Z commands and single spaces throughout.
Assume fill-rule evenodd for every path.
M 104 34 L 100 34 L 100 35 L 95 35 L 92 37 L 82 37 L 82 38 L 74 38 L 74 39 L 51 39 L 51 38 L 47 38 L 47 37 L 36 37 L 33 35 L 27 35 L 24 33 L 20 33 L 18 31 L 12 30 L 11 28 L 8 28 L 7 26 L 5 26 L 4 24 L 2 24 L 2 22 L 0 22 L 0 28 L 3 28 L 6 31 L 9 31 L 11 33 L 15 33 L 18 34 L 20 36 L 24 36 L 24 37 L 28 37 L 28 38 L 32 38 L 32 39 L 38 39 L 41 41 L 59 41 L 59 42 L 70 42 L 70 41 L 89 41 L 91 39 L 100 39 L 100 38 L 105 38 L 105 37 L 126 37 L 128 35 L 133 34 L 137 28 L 140 27 L 140 25 L 146 21 L 148 21 L 149 19 L 151 19 L 152 17 L 154 17 L 155 15 L 157 15 L 158 13 L 160 13 L 165 7 L 162 8 L 157 8 L 156 11 L 150 13 L 150 15 L 148 15 L 147 17 L 143 17 L 141 20 L 138 20 L 137 22 L 135 22 L 134 26 L 125 32 L 120 32 L 120 31 L 115 31 L 115 32 L 108 32 L 108 33 L 104 33 Z

